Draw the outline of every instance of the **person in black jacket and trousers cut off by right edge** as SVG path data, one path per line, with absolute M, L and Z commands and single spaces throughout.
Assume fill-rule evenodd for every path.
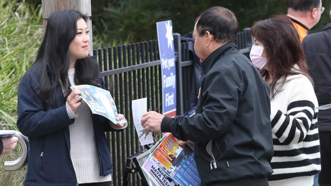
M 331 18 L 331 6 L 329 11 Z M 331 103 L 331 23 L 302 41 L 319 105 Z M 331 185 L 331 110 L 319 110 L 318 131 L 321 146 L 321 172 L 318 183 Z

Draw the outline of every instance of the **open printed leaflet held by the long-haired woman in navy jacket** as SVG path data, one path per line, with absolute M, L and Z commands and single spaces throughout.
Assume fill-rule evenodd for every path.
M 92 86 L 92 85 L 77 85 L 71 86 L 71 89 L 79 89 L 81 91 L 82 100 L 87 103 L 93 114 L 102 115 L 113 123 L 126 123 L 125 119 L 116 120 L 117 108 L 111 92 L 108 90 Z

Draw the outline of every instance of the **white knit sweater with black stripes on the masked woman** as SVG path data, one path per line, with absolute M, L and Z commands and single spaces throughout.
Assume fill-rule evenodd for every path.
M 314 109 L 318 103 L 309 79 L 301 74 L 287 77 L 282 91 L 271 99 L 270 105 L 274 154 L 273 173 L 268 180 L 273 183 L 280 180 L 283 184 L 290 178 L 293 183 L 293 178 L 300 180 L 318 173 L 321 169 L 318 110 Z M 293 185 L 302 186 L 299 181 Z

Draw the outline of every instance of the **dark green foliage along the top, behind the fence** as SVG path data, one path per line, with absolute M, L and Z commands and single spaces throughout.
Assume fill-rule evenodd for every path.
M 321 29 L 330 22 L 331 0 L 322 0 L 326 8 L 320 22 L 313 29 Z M 93 33 L 109 46 L 116 40 L 136 42 L 156 38 L 157 21 L 172 20 L 174 32 L 182 35 L 193 29 L 194 21 L 200 13 L 212 6 L 223 6 L 232 10 L 239 21 L 239 29 L 251 27 L 254 21 L 266 19 L 275 14 L 286 14 L 288 0 L 92 0 Z

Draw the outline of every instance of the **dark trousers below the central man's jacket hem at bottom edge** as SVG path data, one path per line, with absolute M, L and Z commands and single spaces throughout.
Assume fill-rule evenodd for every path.
M 258 177 L 258 178 L 245 178 L 238 180 L 229 180 L 224 182 L 218 182 L 214 184 L 210 184 L 208 186 L 268 186 L 267 177 Z

